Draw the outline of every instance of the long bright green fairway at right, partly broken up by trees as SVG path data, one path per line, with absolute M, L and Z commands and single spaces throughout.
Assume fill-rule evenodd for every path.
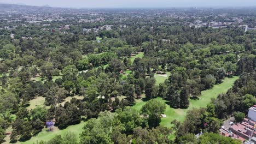
M 233 86 L 234 82 L 237 79 L 238 79 L 238 76 L 235 76 L 232 78 L 225 78 L 223 82 L 220 83 L 219 85 L 214 85 L 213 88 L 208 89 L 206 91 L 202 91 L 202 95 L 199 100 L 189 100 L 190 105 L 188 109 L 173 109 L 166 104 L 166 112 L 165 112 L 166 117 L 161 119 L 160 124 L 166 127 L 171 127 L 171 121 L 173 121 L 174 119 L 177 119 L 178 121 L 183 122 L 188 110 L 191 110 L 193 108 L 206 107 L 207 104 L 211 102 L 212 98 L 216 98 L 221 93 L 226 93 L 228 89 Z M 163 103 L 166 102 L 166 100 L 163 100 L 162 98 L 156 98 L 156 99 L 162 101 Z M 144 104 L 146 104 L 146 101 L 139 102 L 132 107 L 137 110 L 141 110 Z

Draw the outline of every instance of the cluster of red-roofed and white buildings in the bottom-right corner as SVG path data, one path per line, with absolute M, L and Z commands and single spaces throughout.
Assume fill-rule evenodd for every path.
M 220 129 L 220 135 L 241 140 L 243 143 L 256 143 L 256 105 L 249 108 L 247 118 L 241 123 L 230 122 L 228 127 Z

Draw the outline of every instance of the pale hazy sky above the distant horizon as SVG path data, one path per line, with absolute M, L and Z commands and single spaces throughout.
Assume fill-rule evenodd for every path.
M 0 0 L 0 3 L 73 8 L 243 7 L 256 0 Z

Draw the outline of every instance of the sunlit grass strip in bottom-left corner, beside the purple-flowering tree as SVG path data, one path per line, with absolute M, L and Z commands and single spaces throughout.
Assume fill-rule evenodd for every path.
M 67 132 L 74 133 L 78 139 L 79 134 L 82 133 L 84 124 L 86 122 L 81 122 L 79 124 L 70 125 L 66 129 L 60 130 L 58 128 L 55 128 L 54 131 L 46 131 L 46 128 L 44 128 L 37 136 L 33 136 L 30 140 L 25 142 L 18 142 L 18 143 L 37 143 L 37 141 L 49 141 L 56 135 L 64 135 Z

